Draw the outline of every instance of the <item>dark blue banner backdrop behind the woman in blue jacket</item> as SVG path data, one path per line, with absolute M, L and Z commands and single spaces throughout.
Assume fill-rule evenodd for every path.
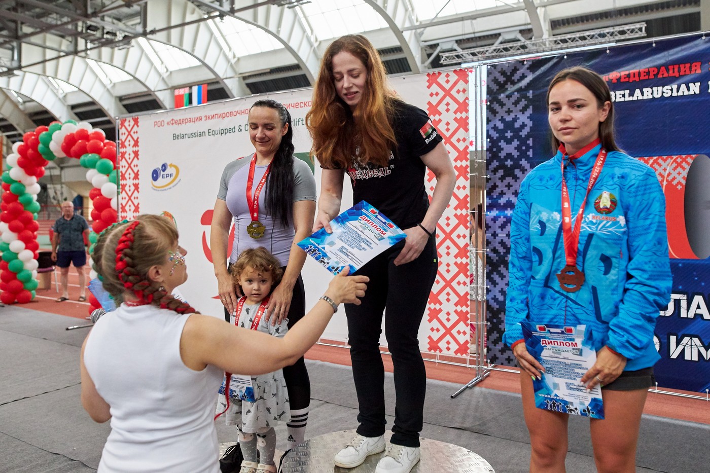
M 510 216 L 528 171 L 552 156 L 545 94 L 565 67 L 599 72 L 611 89 L 617 143 L 656 170 L 667 200 L 673 295 L 655 343 L 659 386 L 710 388 L 710 38 L 687 36 L 488 65 L 488 353 L 503 346 Z

